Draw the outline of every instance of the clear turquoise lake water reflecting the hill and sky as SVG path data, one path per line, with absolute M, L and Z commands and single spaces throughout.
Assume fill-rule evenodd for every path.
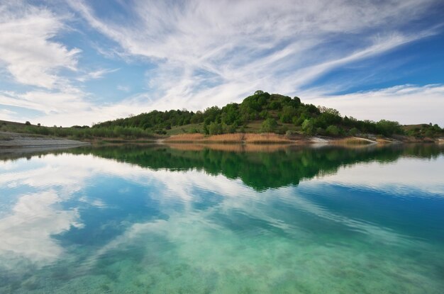
M 0 293 L 443 293 L 444 147 L 0 153 Z

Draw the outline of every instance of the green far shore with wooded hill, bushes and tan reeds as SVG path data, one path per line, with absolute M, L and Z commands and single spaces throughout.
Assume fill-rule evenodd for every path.
M 255 134 L 280 135 L 267 138 L 267 142 L 294 140 L 295 136 L 364 137 L 372 140 L 382 137 L 411 137 L 425 140 L 444 136 L 439 125 L 400 125 L 396 121 L 357 120 L 343 116 L 333 108 L 302 103 L 299 97 L 268 94 L 256 91 L 242 103 L 229 103 L 222 108 L 213 106 L 204 111 L 151 111 L 128 118 L 118 118 L 71 128 L 45 127 L 38 124 L 0 121 L 0 131 L 26 132 L 35 135 L 69 137 L 76 140 L 119 138 L 121 140 L 154 140 L 171 137 L 170 141 L 199 140 L 247 142 Z M 197 134 L 197 135 L 192 135 Z M 230 135 L 231 134 L 231 135 Z M 243 134 L 243 135 L 238 135 Z M 249 134 L 249 135 L 248 135 Z M 222 137 L 220 137 L 223 135 Z M 243 137 L 239 140 L 239 136 Z M 247 136 L 247 137 L 245 137 Z M 270 137 L 271 135 L 267 135 Z M 262 138 L 263 139 L 263 138 Z M 260 142 L 262 139 L 257 139 Z

